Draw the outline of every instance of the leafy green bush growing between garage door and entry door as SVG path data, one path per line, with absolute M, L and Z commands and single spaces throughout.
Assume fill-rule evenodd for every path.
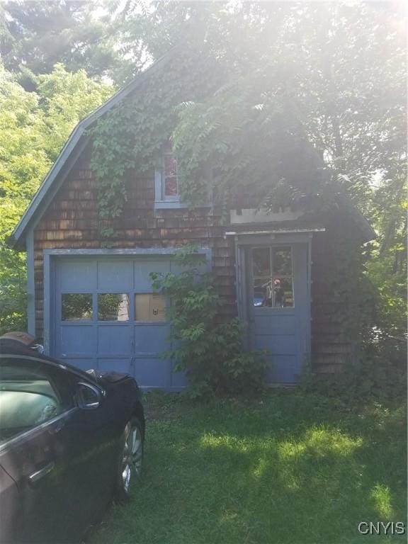
M 175 361 L 175 370 L 186 372 L 193 396 L 261 390 L 268 369 L 266 353 L 246 351 L 239 319 L 217 319 L 223 302 L 210 273 L 200 270 L 205 259 L 194 249 L 180 250 L 175 259 L 185 268 L 181 273 L 150 274 L 153 288 L 171 301 L 172 348 L 164 356 Z

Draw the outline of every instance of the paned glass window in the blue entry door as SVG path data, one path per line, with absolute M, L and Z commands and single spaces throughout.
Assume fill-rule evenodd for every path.
M 252 249 L 254 307 L 294 307 L 292 248 Z

